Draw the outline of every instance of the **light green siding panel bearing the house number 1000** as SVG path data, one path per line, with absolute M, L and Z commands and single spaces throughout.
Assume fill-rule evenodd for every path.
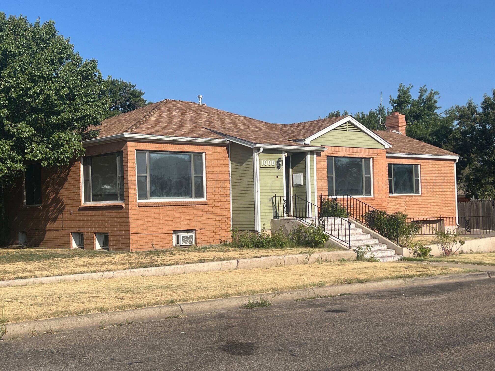
M 259 154 L 259 161 L 271 160 L 277 163 L 277 160 L 282 157 L 281 150 L 269 150 L 265 149 Z M 259 167 L 259 198 L 260 198 L 260 220 L 261 229 L 263 227 L 266 230 L 271 229 L 271 219 L 274 215 L 274 202 L 273 196 L 275 194 L 279 196 L 284 195 L 284 170 L 281 165 L 280 168 L 275 167 Z

